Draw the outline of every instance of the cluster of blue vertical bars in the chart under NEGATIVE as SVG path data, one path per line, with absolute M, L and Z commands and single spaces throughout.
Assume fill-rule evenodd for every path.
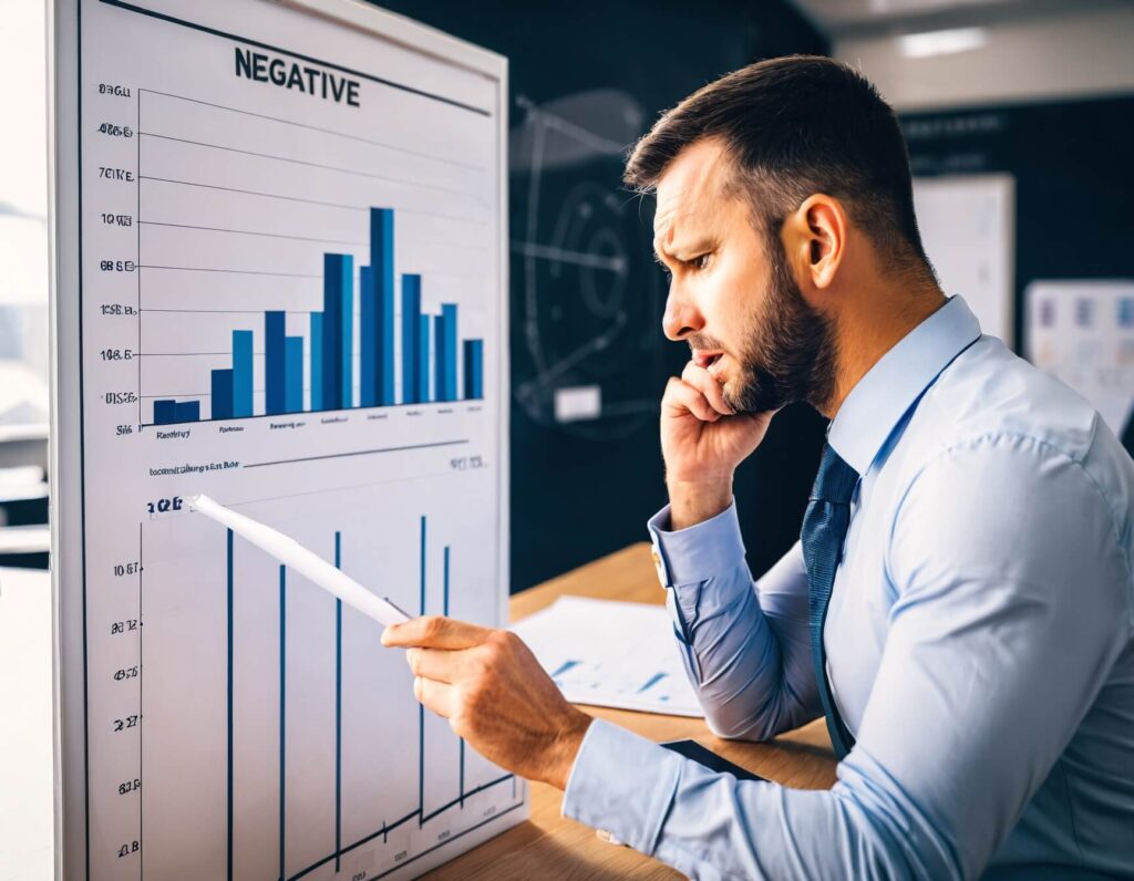
M 356 280 L 353 255 L 323 254 L 323 308 L 306 313 L 305 334 L 288 334 L 282 310 L 264 312 L 259 330 L 232 330 L 231 365 L 210 370 L 208 412 L 200 399 L 155 397 L 152 423 L 481 399 L 484 340 L 465 338 L 458 347 L 459 306 L 442 303 L 439 314 L 424 312 L 421 276 L 403 274 L 396 285 L 393 229 L 392 209 L 371 207 L 370 263 L 358 268 Z M 396 288 L 400 310 L 395 308 Z M 253 405 L 257 340 L 263 345 L 261 412 Z

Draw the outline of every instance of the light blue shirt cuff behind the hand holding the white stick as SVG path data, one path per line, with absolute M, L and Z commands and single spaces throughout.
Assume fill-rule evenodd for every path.
M 680 765 L 676 753 L 595 719 L 567 780 L 564 816 L 653 855 L 677 791 Z

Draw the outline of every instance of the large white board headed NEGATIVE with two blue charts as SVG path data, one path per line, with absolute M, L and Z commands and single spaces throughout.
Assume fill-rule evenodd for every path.
M 380 628 L 507 609 L 506 61 L 350 0 L 57 0 L 67 879 L 407 878 L 527 814 Z

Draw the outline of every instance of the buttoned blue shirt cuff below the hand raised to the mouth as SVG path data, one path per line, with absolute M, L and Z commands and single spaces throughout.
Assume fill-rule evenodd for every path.
M 744 539 L 735 501 L 716 517 L 685 530 L 669 532 L 669 523 L 667 505 L 646 524 L 663 586 L 706 582 L 731 573 L 744 562 Z

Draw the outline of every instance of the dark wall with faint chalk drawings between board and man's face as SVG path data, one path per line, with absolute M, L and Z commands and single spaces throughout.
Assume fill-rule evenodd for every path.
M 721 74 L 828 46 L 778 0 L 379 5 L 509 59 L 511 586 L 522 590 L 641 541 L 665 503 L 658 401 L 687 349 L 661 333 L 653 209 L 620 185 L 625 149 Z M 599 417 L 557 420 L 557 392 L 579 387 L 600 389 Z M 742 473 L 754 569 L 798 532 L 821 432 L 812 414 L 782 414 Z

